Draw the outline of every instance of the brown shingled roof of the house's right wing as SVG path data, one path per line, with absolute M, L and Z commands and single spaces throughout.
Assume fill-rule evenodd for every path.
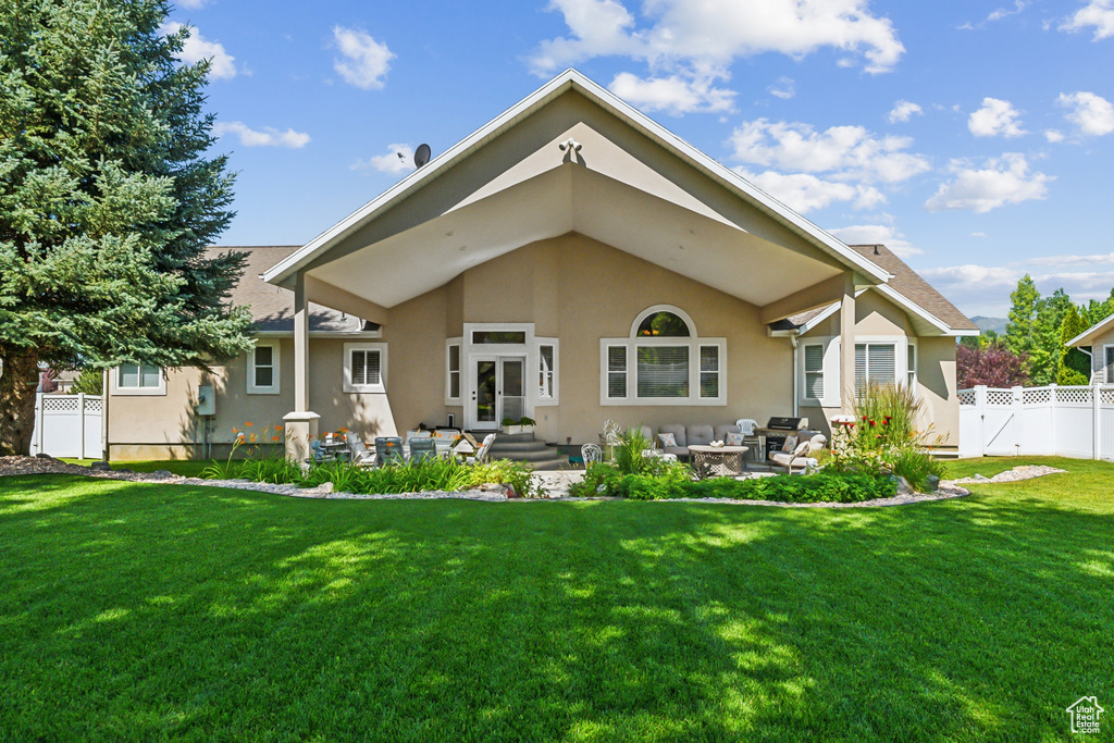
M 960 312 L 951 302 L 948 302 L 942 294 L 932 289 L 928 282 L 921 278 L 916 271 L 910 268 L 905 261 L 895 255 L 888 247 L 874 244 L 849 245 L 849 247 L 856 253 L 867 256 L 870 261 L 892 274 L 892 278 L 889 282 L 872 287 L 883 296 L 903 306 L 907 311 L 918 316 L 918 319 L 927 322 L 946 335 L 978 335 L 978 325 L 968 320 L 967 315 Z M 838 310 L 839 304 L 836 303 L 792 315 L 788 320 L 795 327 L 808 331 Z

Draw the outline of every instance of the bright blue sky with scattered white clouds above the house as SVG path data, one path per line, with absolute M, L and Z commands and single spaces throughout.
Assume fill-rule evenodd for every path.
M 1114 0 L 182 0 L 240 173 L 225 244 L 301 244 L 576 67 L 970 315 L 1114 286 Z M 407 160 L 395 153 L 402 151 Z

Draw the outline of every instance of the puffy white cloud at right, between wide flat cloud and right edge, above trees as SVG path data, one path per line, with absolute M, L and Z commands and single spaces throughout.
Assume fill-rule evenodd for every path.
M 1025 156 L 1018 153 L 990 158 L 984 168 L 973 167 L 969 160 L 951 160 L 949 169 L 955 178 L 940 184 L 925 202 L 929 212 L 971 209 L 985 214 L 1006 204 L 1042 199 L 1048 192 L 1047 184 L 1055 179 L 1043 173 L 1029 174 Z

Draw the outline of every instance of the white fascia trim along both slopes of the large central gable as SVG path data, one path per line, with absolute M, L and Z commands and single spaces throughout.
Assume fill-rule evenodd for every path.
M 301 248 L 278 261 L 265 272 L 263 276 L 264 281 L 272 284 L 287 282 L 297 271 L 309 265 L 314 258 L 336 245 L 344 237 L 373 221 L 377 216 L 385 213 L 439 176 L 448 173 L 452 166 L 570 89 L 575 89 L 585 98 L 626 123 L 636 131 L 639 131 L 696 170 L 703 173 L 713 182 L 719 183 L 740 198 L 759 208 L 774 222 L 800 235 L 822 253 L 833 257 L 840 264 L 857 271 L 869 282 L 882 283 L 889 278 L 889 274 L 868 257 L 850 250 L 834 236 L 797 214 L 734 170 L 717 163 L 668 131 L 580 72 L 568 69 L 438 157 L 434 157 L 423 167 L 409 174 L 377 198 L 364 204 L 348 217 L 314 237 Z

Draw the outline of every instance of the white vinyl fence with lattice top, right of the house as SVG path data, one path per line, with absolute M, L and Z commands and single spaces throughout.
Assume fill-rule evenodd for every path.
M 959 391 L 959 456 L 1114 461 L 1114 384 Z

